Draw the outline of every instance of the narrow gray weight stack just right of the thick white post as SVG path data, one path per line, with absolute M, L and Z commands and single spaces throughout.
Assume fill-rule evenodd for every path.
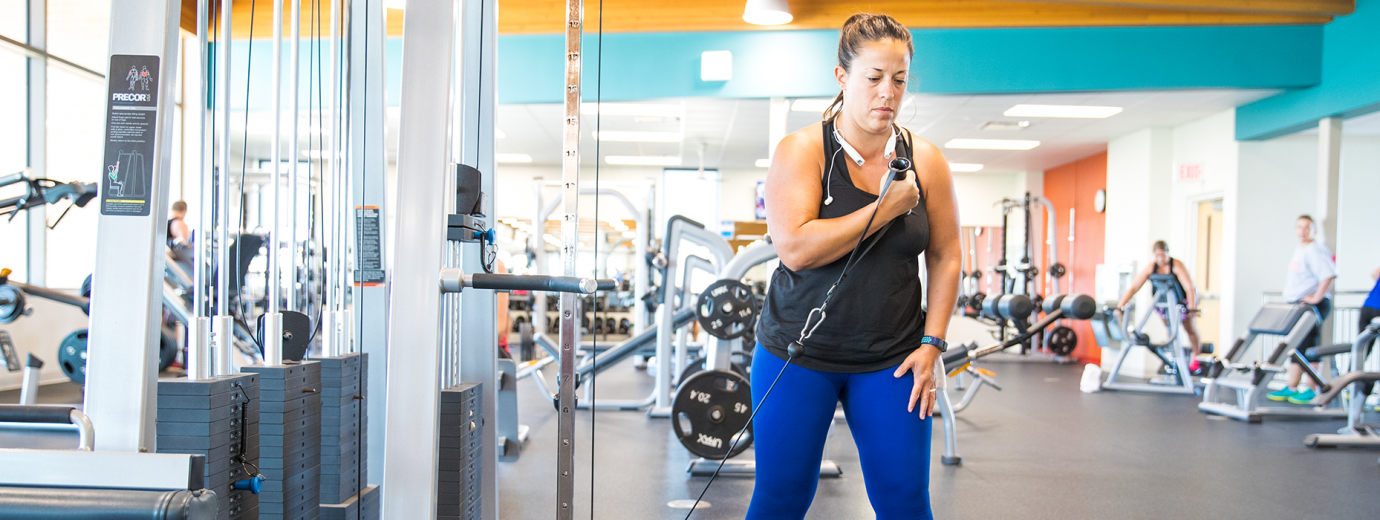
M 483 514 L 483 385 L 440 390 L 440 461 L 436 466 L 436 520 Z

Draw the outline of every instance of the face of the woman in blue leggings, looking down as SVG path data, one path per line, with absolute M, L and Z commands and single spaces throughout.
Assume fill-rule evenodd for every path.
M 901 95 L 911 69 L 911 55 L 900 40 L 862 44 L 853 58 L 853 70 L 834 68 L 843 90 L 843 114 L 869 132 L 890 131 L 901 109 Z

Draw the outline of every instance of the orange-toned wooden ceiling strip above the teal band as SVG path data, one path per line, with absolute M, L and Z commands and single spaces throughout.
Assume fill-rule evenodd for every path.
M 250 0 L 233 1 L 233 34 L 248 37 Z M 327 0 L 319 1 L 328 6 Z M 255 39 L 272 37 L 272 6 L 273 0 L 258 0 Z M 1322 25 L 1355 8 L 1352 0 L 791 0 L 793 22 L 760 26 L 742 21 L 742 0 L 604 0 L 603 29 L 610 33 L 838 29 L 857 12 L 886 12 L 912 29 Z M 304 36 L 310 30 L 309 8 L 310 0 L 302 0 Z M 403 12 L 388 10 L 389 36 L 402 34 Z M 598 12 L 585 10 L 586 26 L 596 26 Z M 284 14 L 284 25 L 287 18 Z M 330 12 L 323 10 L 322 23 L 328 18 Z M 500 1 L 502 34 L 560 33 L 563 23 L 564 0 Z M 196 0 L 182 0 L 182 29 L 195 32 L 195 26 Z M 288 33 L 287 28 L 283 33 Z

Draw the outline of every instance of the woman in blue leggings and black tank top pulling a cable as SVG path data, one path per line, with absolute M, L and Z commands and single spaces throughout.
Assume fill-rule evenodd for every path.
M 929 418 L 934 360 L 958 297 L 959 229 L 944 156 L 894 123 L 912 54 L 909 30 L 890 17 L 849 18 L 834 69 L 842 91 L 822 123 L 781 141 L 767 172 L 767 226 L 781 266 L 771 276 L 752 361 L 759 408 L 751 520 L 805 517 L 839 401 L 876 517 L 933 517 Z M 897 156 L 909 157 L 914 171 L 878 200 Z M 828 317 L 782 372 L 788 346 L 800 341 L 864 228 L 869 241 L 885 232 L 868 252 L 865 243 L 858 248 Z M 922 252 L 927 292 L 916 276 Z M 922 308 L 926 297 L 933 320 Z M 777 374 L 774 394 L 762 403 Z

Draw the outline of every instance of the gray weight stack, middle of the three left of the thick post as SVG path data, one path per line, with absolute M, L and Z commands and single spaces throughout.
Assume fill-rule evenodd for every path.
M 320 516 L 322 364 L 240 368 L 259 375 L 259 519 Z

